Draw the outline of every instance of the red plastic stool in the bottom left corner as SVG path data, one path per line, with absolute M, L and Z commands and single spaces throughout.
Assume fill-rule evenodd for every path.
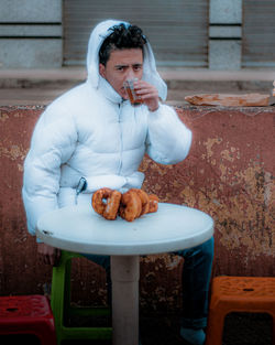
M 56 345 L 54 316 L 44 295 L 0 297 L 0 335 L 33 334 Z

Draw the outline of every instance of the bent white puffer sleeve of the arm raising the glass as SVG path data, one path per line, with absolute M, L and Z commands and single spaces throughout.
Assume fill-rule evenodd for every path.
M 166 105 L 148 115 L 146 152 L 161 164 L 183 161 L 191 145 L 191 131 L 179 120 L 176 111 Z

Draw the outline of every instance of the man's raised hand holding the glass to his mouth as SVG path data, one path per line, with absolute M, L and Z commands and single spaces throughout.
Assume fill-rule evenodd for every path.
M 148 107 L 150 111 L 158 109 L 158 91 L 155 86 L 144 80 L 134 82 L 135 94 L 141 97 L 142 103 Z

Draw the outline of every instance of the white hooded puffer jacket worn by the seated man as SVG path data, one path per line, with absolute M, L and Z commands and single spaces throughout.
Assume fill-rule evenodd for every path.
M 141 187 L 139 165 L 145 152 L 162 164 L 177 163 L 188 154 L 191 132 L 173 108 L 161 105 L 151 112 L 145 105 L 132 107 L 98 73 L 98 51 L 117 24 L 99 24 L 89 41 L 88 78 L 57 98 L 38 119 L 24 162 L 23 202 L 29 231 L 35 234 L 41 215 L 57 207 L 90 202 L 100 187 Z M 146 44 L 144 79 L 165 99 L 166 86 L 155 69 Z M 76 197 L 79 179 L 88 185 Z

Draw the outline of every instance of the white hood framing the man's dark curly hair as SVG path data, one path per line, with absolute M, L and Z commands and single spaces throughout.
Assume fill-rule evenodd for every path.
M 118 20 L 107 20 L 99 23 L 91 32 L 89 43 L 88 43 L 88 54 L 87 54 L 87 72 L 88 82 L 92 87 L 98 88 L 100 75 L 99 75 L 99 50 L 105 41 L 105 39 L 110 34 L 108 31 L 110 28 L 119 24 L 129 25 L 128 22 Z M 144 45 L 144 62 L 143 62 L 143 80 L 154 85 L 160 97 L 165 100 L 167 97 L 167 86 L 165 82 L 161 78 L 156 71 L 155 57 L 152 47 L 147 41 Z

